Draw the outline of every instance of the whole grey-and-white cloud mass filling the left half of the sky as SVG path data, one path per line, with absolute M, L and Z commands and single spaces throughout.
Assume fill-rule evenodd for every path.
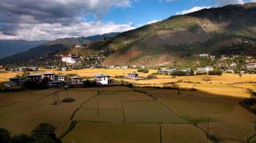
M 0 0 L 0 39 L 57 39 L 121 32 L 131 23 L 100 21 L 112 7 L 131 7 L 134 0 Z

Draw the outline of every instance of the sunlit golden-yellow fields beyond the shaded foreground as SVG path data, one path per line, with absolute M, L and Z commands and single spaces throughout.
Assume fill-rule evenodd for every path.
M 118 76 L 127 76 L 128 73 L 137 72 L 138 69 L 80 69 L 72 71 L 56 71 L 52 69 L 40 69 L 39 72 L 54 72 L 56 74 L 78 74 L 80 77 L 92 78 L 94 74 L 109 74 L 111 79 L 131 82 L 134 85 L 160 86 L 178 88 L 195 88 L 203 92 L 213 93 L 219 96 L 235 96 L 240 98 L 250 98 L 251 93 L 248 89 L 256 91 L 256 74 L 244 74 L 241 77 L 238 74 L 223 74 L 222 76 L 189 76 L 189 77 L 171 77 L 167 75 L 157 75 L 157 79 L 151 80 L 130 80 L 116 79 Z M 156 69 L 151 69 L 149 73 L 139 73 L 139 77 L 147 77 L 150 74 L 157 73 Z M 7 82 L 10 77 L 23 74 L 22 72 L 0 73 L 0 82 Z M 175 83 L 175 84 L 173 84 Z

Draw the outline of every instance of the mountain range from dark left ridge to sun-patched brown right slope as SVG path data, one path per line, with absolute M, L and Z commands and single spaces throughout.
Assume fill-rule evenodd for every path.
M 256 4 L 202 9 L 111 36 L 89 42 L 75 53 L 86 56 L 104 51 L 102 64 L 138 66 L 192 65 L 199 53 L 256 55 Z M 1 63 L 74 52 L 70 47 L 83 41 L 83 37 L 58 39 L 3 58 Z

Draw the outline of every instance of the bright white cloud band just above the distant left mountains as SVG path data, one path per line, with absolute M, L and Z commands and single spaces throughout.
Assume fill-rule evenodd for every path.
M 122 32 L 135 28 L 132 23 L 115 24 L 89 22 L 73 23 L 70 26 L 61 26 L 60 23 L 23 23 L 18 25 L 16 34 L 5 35 L 0 31 L 0 39 L 25 39 L 25 40 L 53 40 L 66 37 L 93 36 L 110 32 Z

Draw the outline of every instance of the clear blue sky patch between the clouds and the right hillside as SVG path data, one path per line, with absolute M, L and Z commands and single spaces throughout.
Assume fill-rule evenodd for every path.
M 142 23 L 147 23 L 151 20 L 163 20 L 176 12 L 181 12 L 192 7 L 209 7 L 214 6 L 211 0 L 198 1 L 158 1 L 158 0 L 140 0 L 132 3 L 132 7 L 126 8 L 112 8 L 104 18 L 103 21 L 113 21 L 113 23 L 133 23 L 138 26 Z M 89 20 L 94 20 L 92 16 Z

